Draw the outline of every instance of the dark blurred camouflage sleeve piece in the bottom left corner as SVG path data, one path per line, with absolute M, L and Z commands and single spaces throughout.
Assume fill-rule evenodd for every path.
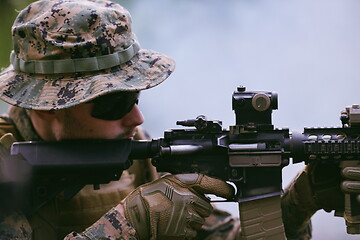
M 0 220 L 0 239 L 2 240 L 30 240 L 32 230 L 26 217 L 13 212 Z

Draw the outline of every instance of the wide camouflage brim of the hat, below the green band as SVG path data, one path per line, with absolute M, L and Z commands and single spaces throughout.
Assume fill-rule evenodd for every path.
M 10 65 L 0 73 L 0 99 L 27 109 L 64 109 L 110 92 L 152 88 L 174 69 L 172 58 L 146 49 L 123 65 L 96 72 L 37 75 L 15 72 Z

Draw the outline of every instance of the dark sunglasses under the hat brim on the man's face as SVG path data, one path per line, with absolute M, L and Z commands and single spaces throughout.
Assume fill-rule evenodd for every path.
M 110 93 L 90 101 L 94 103 L 91 116 L 102 120 L 119 120 L 139 102 L 140 92 Z

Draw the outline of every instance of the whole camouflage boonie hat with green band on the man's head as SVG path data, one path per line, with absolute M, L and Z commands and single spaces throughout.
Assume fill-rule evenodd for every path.
M 63 109 L 114 91 L 154 87 L 175 62 L 141 49 L 131 16 L 106 0 L 43 0 L 12 27 L 11 65 L 0 73 L 0 99 L 28 109 Z

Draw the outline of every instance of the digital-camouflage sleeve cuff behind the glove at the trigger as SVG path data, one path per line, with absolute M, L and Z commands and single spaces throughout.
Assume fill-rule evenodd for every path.
M 72 232 L 64 240 L 124 239 L 136 240 L 136 231 L 115 208 L 112 208 L 81 234 Z

